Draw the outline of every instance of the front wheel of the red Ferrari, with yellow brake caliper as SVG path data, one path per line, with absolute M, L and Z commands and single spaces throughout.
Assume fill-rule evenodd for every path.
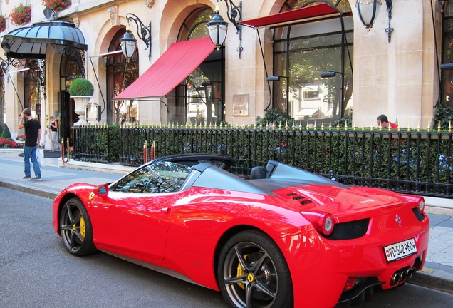
M 96 252 L 93 227 L 85 206 L 78 198 L 66 201 L 60 212 L 60 233 L 66 250 L 83 256 Z

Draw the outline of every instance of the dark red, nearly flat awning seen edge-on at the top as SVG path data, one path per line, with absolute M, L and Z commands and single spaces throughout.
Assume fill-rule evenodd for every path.
M 288 26 L 290 24 L 299 24 L 306 21 L 329 19 L 336 16 L 340 16 L 340 11 L 338 11 L 338 9 L 328 4 L 321 3 L 256 19 L 249 19 L 241 21 L 240 23 L 254 28 L 276 28 Z

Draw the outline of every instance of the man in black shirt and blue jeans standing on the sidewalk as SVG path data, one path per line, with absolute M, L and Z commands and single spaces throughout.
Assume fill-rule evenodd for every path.
M 26 118 L 24 122 L 24 117 Z M 41 140 L 41 124 L 31 116 L 30 108 L 25 108 L 19 120 L 19 129 L 25 128 L 24 165 L 25 176 L 22 180 L 41 180 L 41 169 L 39 168 L 36 150 Z M 31 178 L 30 158 L 33 163 L 35 177 Z

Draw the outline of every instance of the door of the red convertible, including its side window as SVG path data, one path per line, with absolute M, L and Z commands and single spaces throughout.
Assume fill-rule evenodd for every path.
M 168 213 L 190 168 L 165 162 L 147 165 L 96 196 L 93 240 L 100 250 L 141 260 L 163 260 Z

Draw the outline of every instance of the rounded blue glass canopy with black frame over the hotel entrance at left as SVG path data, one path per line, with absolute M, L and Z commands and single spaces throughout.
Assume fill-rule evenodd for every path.
M 69 21 L 41 21 L 14 29 L 1 38 L 1 47 L 9 58 L 46 58 L 47 45 L 87 50 L 82 31 Z

